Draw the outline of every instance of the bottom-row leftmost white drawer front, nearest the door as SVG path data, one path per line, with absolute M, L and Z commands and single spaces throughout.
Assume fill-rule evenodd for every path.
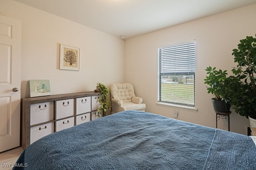
M 54 122 L 30 127 L 30 144 L 51 133 L 54 133 Z

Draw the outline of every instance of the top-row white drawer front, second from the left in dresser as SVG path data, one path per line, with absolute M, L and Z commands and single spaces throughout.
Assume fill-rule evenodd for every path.
M 56 119 L 74 115 L 74 100 L 66 99 L 56 101 Z

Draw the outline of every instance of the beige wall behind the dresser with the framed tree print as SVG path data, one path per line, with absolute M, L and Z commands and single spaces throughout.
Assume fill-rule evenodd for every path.
M 1 0 L 0 15 L 22 21 L 22 98 L 33 79 L 49 79 L 51 94 L 124 81 L 124 40 L 13 0 Z M 80 48 L 79 71 L 59 69 L 60 43 Z

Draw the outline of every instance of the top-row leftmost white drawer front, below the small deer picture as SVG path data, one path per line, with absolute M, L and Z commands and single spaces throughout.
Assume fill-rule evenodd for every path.
M 44 102 L 30 105 L 30 125 L 54 119 L 53 102 Z

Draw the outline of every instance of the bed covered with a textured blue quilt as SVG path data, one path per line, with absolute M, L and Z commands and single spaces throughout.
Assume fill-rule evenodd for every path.
M 256 170 L 252 137 L 142 111 L 123 111 L 28 146 L 14 169 Z

